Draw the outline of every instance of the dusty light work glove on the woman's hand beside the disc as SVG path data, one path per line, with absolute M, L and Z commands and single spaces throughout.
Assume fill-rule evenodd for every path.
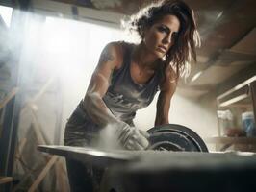
M 131 127 L 122 121 L 117 123 L 115 135 L 119 144 L 127 150 L 144 150 L 149 145 L 147 132 Z

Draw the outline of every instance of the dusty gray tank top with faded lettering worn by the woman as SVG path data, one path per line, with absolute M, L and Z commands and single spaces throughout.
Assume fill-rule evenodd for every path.
M 147 107 L 154 99 L 159 90 L 161 73 L 155 72 L 146 84 L 135 83 L 130 73 L 131 54 L 135 45 L 121 43 L 125 50 L 123 64 L 113 72 L 103 101 L 118 119 L 132 124 L 136 111 Z

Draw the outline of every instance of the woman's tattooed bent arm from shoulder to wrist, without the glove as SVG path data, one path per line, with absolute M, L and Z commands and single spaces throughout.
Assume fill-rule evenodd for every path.
M 100 126 L 116 121 L 115 116 L 107 108 L 102 97 L 108 90 L 113 70 L 120 67 L 122 58 L 123 53 L 120 44 L 113 42 L 104 48 L 84 98 L 84 109 L 92 121 Z

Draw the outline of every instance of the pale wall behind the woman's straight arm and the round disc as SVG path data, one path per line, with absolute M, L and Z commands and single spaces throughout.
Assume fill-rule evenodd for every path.
M 143 130 L 148 130 L 154 125 L 157 97 L 148 108 L 138 111 L 135 124 Z M 203 139 L 218 134 L 218 121 L 216 115 L 215 99 L 207 97 L 203 102 L 179 94 L 179 88 L 174 94 L 169 111 L 169 123 L 180 124 L 192 129 Z M 211 151 L 215 145 L 206 143 Z

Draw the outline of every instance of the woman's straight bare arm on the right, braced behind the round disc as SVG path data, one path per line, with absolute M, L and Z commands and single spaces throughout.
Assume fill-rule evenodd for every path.
M 168 113 L 170 107 L 170 100 L 176 90 L 177 78 L 172 67 L 166 68 L 165 82 L 161 84 L 161 91 L 157 101 L 157 114 L 155 120 L 155 126 L 168 124 Z

